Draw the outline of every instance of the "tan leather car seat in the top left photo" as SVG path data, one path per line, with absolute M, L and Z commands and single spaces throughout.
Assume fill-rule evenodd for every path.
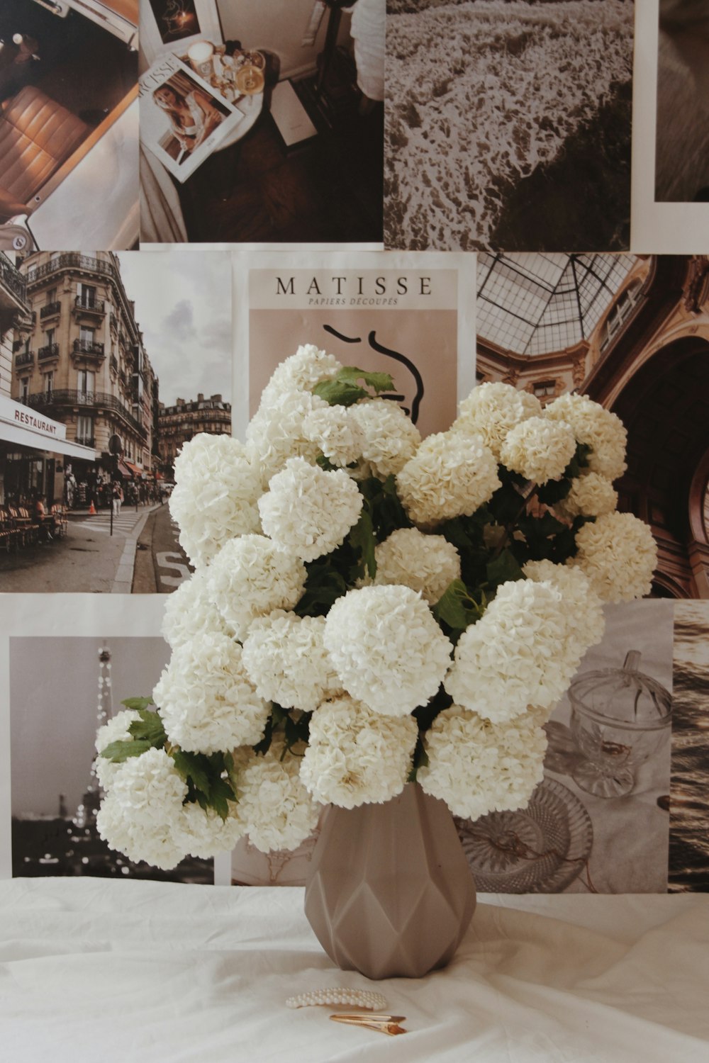
M 70 111 L 27 85 L 0 108 L 0 220 L 30 214 L 41 186 L 88 135 Z

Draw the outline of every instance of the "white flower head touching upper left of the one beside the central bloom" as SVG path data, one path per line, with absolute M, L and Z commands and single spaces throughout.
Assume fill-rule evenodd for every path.
M 291 609 L 303 594 L 305 566 L 277 550 L 266 536 L 227 542 L 209 566 L 209 596 L 236 637 L 243 639 L 256 617 Z

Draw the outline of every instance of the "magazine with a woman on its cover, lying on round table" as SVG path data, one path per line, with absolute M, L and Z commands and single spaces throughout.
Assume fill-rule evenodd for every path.
M 238 103 L 176 55 L 164 56 L 140 79 L 140 140 L 181 183 L 244 120 Z

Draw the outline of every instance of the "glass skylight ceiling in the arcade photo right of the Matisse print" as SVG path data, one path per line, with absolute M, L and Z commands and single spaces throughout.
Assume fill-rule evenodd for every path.
M 477 334 L 514 354 L 588 339 L 635 265 L 631 255 L 477 256 Z

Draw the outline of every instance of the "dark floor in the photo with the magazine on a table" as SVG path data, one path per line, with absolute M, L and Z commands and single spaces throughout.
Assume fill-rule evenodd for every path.
M 190 241 L 381 241 L 384 108 L 339 114 L 286 154 L 265 113 L 181 189 Z

